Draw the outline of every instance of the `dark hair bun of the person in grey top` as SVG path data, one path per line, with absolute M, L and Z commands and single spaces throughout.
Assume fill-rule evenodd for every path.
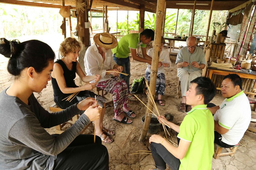
M 4 55 L 7 58 L 11 58 L 16 53 L 17 45 L 20 42 L 15 39 L 8 41 L 5 38 L 0 38 L 0 54 Z

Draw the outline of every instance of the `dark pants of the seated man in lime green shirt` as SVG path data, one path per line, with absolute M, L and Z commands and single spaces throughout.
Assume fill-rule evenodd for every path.
M 164 170 L 166 169 L 166 164 L 172 170 L 178 170 L 180 168 L 180 159 L 173 156 L 163 145 L 151 142 L 150 148 L 156 168 Z

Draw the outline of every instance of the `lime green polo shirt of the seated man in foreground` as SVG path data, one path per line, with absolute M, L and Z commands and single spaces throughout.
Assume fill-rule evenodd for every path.
M 191 142 L 185 157 L 180 160 L 180 170 L 212 168 L 214 121 L 206 104 L 197 105 L 187 113 L 177 137 Z

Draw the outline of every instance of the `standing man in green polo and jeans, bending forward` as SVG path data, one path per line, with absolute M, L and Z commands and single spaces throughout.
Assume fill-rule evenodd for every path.
M 123 36 L 119 41 L 118 45 L 112 49 L 113 59 L 115 62 L 123 67 L 122 73 L 129 74 L 125 76 L 120 74 L 120 77 L 125 80 L 128 86 L 129 97 L 132 95 L 130 94 L 130 59 L 129 54 L 131 53 L 131 57 L 140 62 L 149 63 L 151 64 L 152 58 L 149 57 L 146 53 L 146 45 L 147 43 L 154 40 L 154 31 L 152 29 L 145 29 L 143 32 L 140 33 L 131 33 Z M 142 57 L 139 57 L 136 53 L 136 48 L 140 46 Z M 134 96 L 133 96 L 134 97 Z

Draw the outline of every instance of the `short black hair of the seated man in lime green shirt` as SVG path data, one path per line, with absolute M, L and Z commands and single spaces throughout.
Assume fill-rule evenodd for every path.
M 207 77 L 197 77 L 190 83 L 196 83 L 196 95 L 202 94 L 204 98 L 204 104 L 208 104 L 216 94 L 215 84 L 211 79 Z

